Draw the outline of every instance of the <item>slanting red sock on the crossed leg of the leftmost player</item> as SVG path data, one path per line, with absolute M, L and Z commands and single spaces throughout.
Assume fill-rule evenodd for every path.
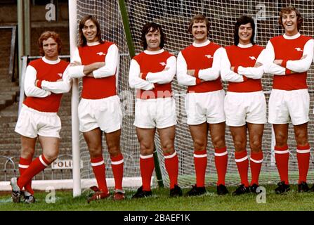
M 22 188 L 31 181 L 36 174 L 39 174 L 39 172 L 48 167 L 48 165 L 50 165 L 50 162 L 46 160 L 44 155 L 39 155 L 38 158 L 34 159 L 34 161 L 31 162 L 30 167 L 28 167 L 18 178 L 18 186 L 20 187 L 20 190 L 22 190 Z

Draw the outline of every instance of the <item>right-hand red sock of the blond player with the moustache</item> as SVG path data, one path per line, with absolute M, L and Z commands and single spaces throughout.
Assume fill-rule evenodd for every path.
M 225 173 L 227 172 L 228 165 L 228 152 L 227 147 L 215 148 L 215 165 L 218 176 L 217 186 L 220 184 L 225 185 Z

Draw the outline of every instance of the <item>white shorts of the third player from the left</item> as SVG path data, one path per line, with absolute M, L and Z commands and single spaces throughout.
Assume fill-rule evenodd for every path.
M 139 99 L 135 103 L 134 126 L 143 129 L 163 129 L 176 125 L 174 98 Z

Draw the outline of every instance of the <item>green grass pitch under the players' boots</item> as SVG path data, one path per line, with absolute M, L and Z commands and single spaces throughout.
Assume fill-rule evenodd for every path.
M 207 188 L 207 194 L 197 197 L 183 196 L 169 198 L 168 188 L 152 189 L 152 197 L 131 199 L 134 190 L 126 191 L 127 199 L 116 202 L 112 198 L 99 200 L 88 204 L 86 198 L 89 191 L 84 191 L 78 198 L 72 198 L 72 191 L 56 191 L 55 203 L 46 203 L 53 200 L 46 192 L 36 192 L 37 203 L 12 203 L 11 193 L 0 193 L 1 211 L 313 211 L 314 193 L 298 193 L 297 186 L 292 185 L 291 191 L 284 195 L 276 195 L 274 185 L 265 185 L 266 195 L 261 196 L 249 193 L 233 196 L 217 195 L 216 187 Z M 228 187 L 230 193 L 235 186 Z M 187 193 L 188 189 L 183 189 Z M 51 193 L 50 193 L 51 194 Z M 260 198 L 259 198 L 260 197 Z M 259 199 L 256 200 L 256 198 Z M 266 203 L 258 203 L 264 200 Z

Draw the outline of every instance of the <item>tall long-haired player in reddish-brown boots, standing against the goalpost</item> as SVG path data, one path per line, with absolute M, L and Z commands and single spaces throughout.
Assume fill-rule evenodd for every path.
M 83 90 L 79 103 L 79 130 L 89 148 L 91 166 L 98 187 L 92 200 L 108 198 L 110 193 L 105 179 L 102 136 L 105 134 L 115 178 L 114 200 L 125 198 L 122 191 L 124 160 L 120 150 L 122 110 L 117 96 L 116 72 L 119 63 L 117 46 L 101 39 L 96 18 L 87 15 L 79 23 L 79 47 L 74 52 L 69 72 L 71 77 L 82 77 Z

